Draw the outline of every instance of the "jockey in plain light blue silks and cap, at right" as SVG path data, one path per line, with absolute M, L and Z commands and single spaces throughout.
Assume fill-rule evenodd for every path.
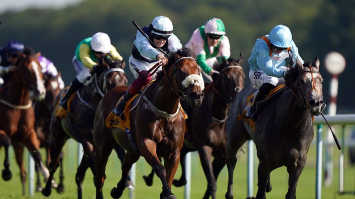
M 288 51 L 292 50 L 293 60 L 300 60 L 298 48 L 292 40 L 290 29 L 285 25 L 276 25 L 270 34 L 258 38 L 248 62 L 250 64 L 250 81 L 259 88 L 252 107 L 247 112 L 247 117 L 257 119 L 256 104 L 277 85 L 284 83 L 287 70 L 285 59 L 289 57 Z M 296 64 L 296 61 L 294 65 Z

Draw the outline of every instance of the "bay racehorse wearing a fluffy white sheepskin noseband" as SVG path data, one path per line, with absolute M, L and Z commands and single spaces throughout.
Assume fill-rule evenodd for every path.
M 143 156 L 161 179 L 163 191 L 160 198 L 176 198 L 171 192 L 171 184 L 177 170 L 180 150 L 183 145 L 185 121 L 179 108 L 179 99 L 187 99 L 191 106 L 199 106 L 203 99 L 203 79 L 201 69 L 191 57 L 188 48 L 175 52 L 172 66 L 157 74 L 142 98 L 131 111 L 130 123 L 132 145 L 125 130 L 108 128 L 105 120 L 124 94 L 127 86 L 117 86 L 109 90 L 97 106 L 94 118 L 94 150 L 96 172 L 96 198 L 100 198 L 105 175 L 105 167 L 112 147 L 119 143 L 126 151 L 122 163 L 122 177 L 117 187 L 111 190 L 113 198 L 120 198 L 125 189 L 125 181 L 132 164 Z M 168 64 L 170 65 L 170 64 Z M 134 101 L 137 101 L 137 97 Z M 138 116 L 139 115 L 139 116 Z M 112 140 L 112 134 L 114 139 Z M 117 143 L 115 143 L 115 141 Z M 133 146 L 135 143 L 135 146 Z M 136 149 L 137 150 L 136 150 Z M 164 165 L 159 157 L 164 158 Z

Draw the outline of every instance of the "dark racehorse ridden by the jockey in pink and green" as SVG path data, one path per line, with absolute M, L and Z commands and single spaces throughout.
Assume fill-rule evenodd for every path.
M 180 179 L 174 179 L 175 186 L 186 184 L 185 177 L 185 156 L 190 151 L 198 150 L 203 171 L 206 175 L 208 185 L 203 198 L 216 198 L 217 177 L 224 167 L 227 159 L 225 153 L 225 120 L 228 117 L 228 110 L 235 96 L 244 87 L 245 74 L 241 67 L 243 54 L 238 60 L 229 58 L 219 66 L 214 67 L 219 71 L 215 82 L 209 84 L 204 91 L 205 100 L 201 106 L 191 108 L 187 111 L 187 129 L 185 132 L 185 143 L 181 149 L 180 163 L 182 173 Z M 188 109 L 183 103 L 184 110 Z M 188 143 L 188 144 L 186 144 Z M 214 156 L 211 162 L 211 156 Z M 148 176 L 143 176 L 147 185 L 152 185 L 154 169 Z

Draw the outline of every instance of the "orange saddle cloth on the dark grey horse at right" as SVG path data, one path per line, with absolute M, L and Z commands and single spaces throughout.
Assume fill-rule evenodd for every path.
M 275 96 L 277 93 L 280 93 L 282 90 L 284 90 L 286 88 L 286 85 L 285 84 L 281 84 L 281 85 L 279 85 L 279 86 L 277 86 L 276 88 L 274 88 L 274 89 L 272 89 L 270 92 L 269 92 L 269 94 L 266 96 L 266 98 L 264 99 L 264 100 L 262 100 L 262 101 L 267 101 L 267 100 L 270 100 L 270 98 L 272 98 L 272 96 Z M 253 129 L 253 130 L 255 130 L 255 122 L 256 121 L 254 121 L 253 119 L 251 119 L 251 118 L 248 118 L 247 117 L 247 112 L 248 112 L 248 110 L 252 107 L 252 105 L 253 105 L 253 103 L 254 103 L 254 99 L 255 99 L 255 96 L 256 96 L 256 94 L 258 93 L 258 90 L 259 89 L 257 89 L 255 92 L 253 92 L 251 95 L 249 95 L 248 97 L 247 97 L 247 105 L 246 105 L 246 107 L 245 107 L 245 109 L 244 109 L 244 112 L 242 112 L 241 114 L 239 114 L 238 116 L 237 116 L 237 120 L 242 120 L 242 119 L 244 119 L 244 120 L 246 120 L 247 121 L 247 123 L 248 123 L 248 125 L 250 125 L 250 127 Z M 257 106 L 259 105 L 259 103 L 257 104 Z M 259 108 L 258 109 L 258 107 L 257 107 L 257 110 L 258 110 L 258 114 L 260 114 L 260 112 L 261 112 L 261 108 Z

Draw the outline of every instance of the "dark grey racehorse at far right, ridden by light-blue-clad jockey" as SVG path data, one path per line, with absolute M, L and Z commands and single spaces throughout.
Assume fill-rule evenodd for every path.
M 245 120 L 238 120 L 237 115 L 244 112 L 247 97 L 257 87 L 249 84 L 242 89 L 231 105 L 226 123 L 228 189 L 225 198 L 233 198 L 235 154 L 250 139 L 257 147 L 260 161 L 256 198 L 266 198 L 265 192 L 272 188 L 270 172 L 281 166 L 286 166 L 289 173 L 286 198 L 296 198 L 297 181 L 313 139 L 312 117 L 320 113 L 323 104 L 322 82 L 318 57 L 314 63 L 303 65 L 297 60 L 296 66 L 291 67 L 285 77 L 287 89 L 275 95 L 260 112 L 255 130 Z

